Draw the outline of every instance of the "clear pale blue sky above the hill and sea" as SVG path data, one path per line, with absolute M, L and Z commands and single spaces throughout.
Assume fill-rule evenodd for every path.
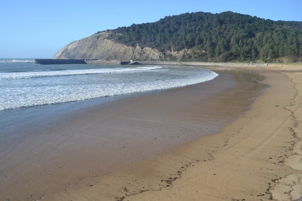
M 302 21 L 302 0 L 2 0 L 0 6 L 0 58 L 52 58 L 70 42 L 98 31 L 186 12 Z

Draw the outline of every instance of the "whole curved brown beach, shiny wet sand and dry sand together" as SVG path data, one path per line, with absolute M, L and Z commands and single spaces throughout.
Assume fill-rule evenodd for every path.
M 104 103 L 27 137 L 9 152 L 8 166 L 22 163 L 2 173 L 20 174 L 2 178 L 3 200 L 300 198 L 302 66 L 215 68 L 214 80 Z M 251 74 L 272 87 L 242 80 Z

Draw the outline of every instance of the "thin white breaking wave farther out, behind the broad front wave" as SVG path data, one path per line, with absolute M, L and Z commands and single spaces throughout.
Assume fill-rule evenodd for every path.
M 84 70 L 65 70 L 65 71 L 45 71 L 41 72 L 22 72 L 22 73 L 2 73 L 0 80 L 37 78 L 37 77 L 59 77 L 71 75 L 85 75 L 85 74 L 114 74 L 114 73 L 139 73 L 149 71 L 168 71 L 159 66 L 153 67 L 136 67 L 136 68 L 103 68 L 103 69 L 84 69 Z

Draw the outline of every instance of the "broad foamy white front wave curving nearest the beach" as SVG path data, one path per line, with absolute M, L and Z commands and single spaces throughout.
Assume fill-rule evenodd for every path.
M 175 87 L 188 86 L 191 84 L 206 82 L 218 76 L 212 71 L 203 74 L 191 74 L 189 79 L 176 80 L 153 80 L 151 82 L 115 83 L 79 85 L 79 86 L 47 86 L 36 89 L 34 87 L 23 87 L 18 89 L 10 88 L 4 91 L 7 97 L 0 97 L 0 110 L 24 108 L 37 105 L 50 105 L 64 102 L 73 102 L 86 99 L 95 99 L 108 96 L 117 96 L 130 93 L 141 93 L 154 90 L 165 90 Z M 11 90 L 14 91 L 13 94 Z M 10 100 L 10 101 L 8 101 Z M 11 101 L 13 100 L 13 101 Z

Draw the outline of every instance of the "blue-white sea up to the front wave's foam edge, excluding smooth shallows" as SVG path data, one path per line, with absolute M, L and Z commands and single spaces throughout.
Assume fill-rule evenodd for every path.
M 163 90 L 217 75 L 182 66 L 41 65 L 28 59 L 1 59 L 0 110 Z

